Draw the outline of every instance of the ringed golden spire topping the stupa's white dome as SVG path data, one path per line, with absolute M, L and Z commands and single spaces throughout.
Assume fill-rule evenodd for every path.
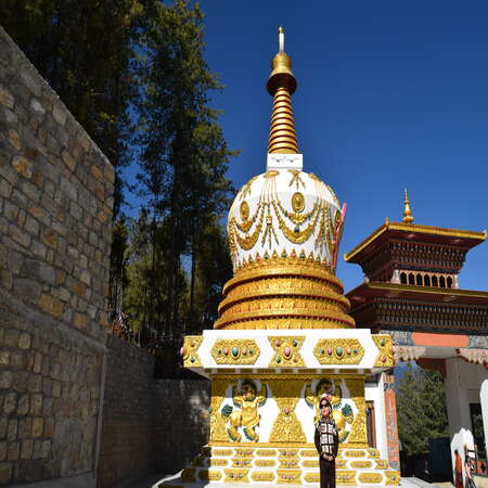
M 292 73 L 292 60 L 284 52 L 283 27 L 280 27 L 278 33 L 279 51 L 271 62 L 272 72 L 266 85 L 269 94 L 273 97 L 268 153 L 297 154 L 298 143 L 291 98 L 296 90 L 296 79 Z

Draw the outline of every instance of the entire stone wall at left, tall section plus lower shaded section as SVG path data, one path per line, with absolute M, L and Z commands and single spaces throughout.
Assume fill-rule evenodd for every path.
M 0 27 L 1 486 L 120 487 L 207 441 L 208 382 L 105 332 L 114 178 Z

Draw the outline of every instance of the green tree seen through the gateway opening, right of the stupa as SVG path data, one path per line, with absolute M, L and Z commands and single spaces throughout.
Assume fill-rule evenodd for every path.
M 409 454 L 428 451 L 429 439 L 449 436 L 442 376 L 407 364 L 397 387 L 398 431 Z

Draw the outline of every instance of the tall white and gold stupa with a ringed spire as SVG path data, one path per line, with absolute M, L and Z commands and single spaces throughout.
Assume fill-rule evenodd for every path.
M 184 338 L 184 367 L 210 378 L 211 400 L 208 445 L 180 483 L 319 483 L 313 424 L 320 396 L 330 393 L 337 483 L 398 485 L 386 448 L 368 444 L 364 387 L 369 378 L 368 395 L 384 412 L 377 373 L 394 365 L 391 339 L 355 329 L 348 316 L 335 277 L 346 206 L 303 171 L 291 102 L 296 79 L 283 44 L 280 28 L 267 84 L 267 170 L 240 190 L 229 213 L 234 277 L 214 330 Z M 384 425 L 376 421 L 376 439 L 385 440 Z

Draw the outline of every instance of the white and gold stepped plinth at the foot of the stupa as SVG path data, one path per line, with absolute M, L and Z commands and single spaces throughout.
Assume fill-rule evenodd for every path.
M 279 484 L 312 485 L 320 483 L 319 460 L 313 446 L 246 448 L 206 446 L 181 473 L 181 479 L 163 487 L 202 484 Z M 380 459 L 377 449 L 344 447 L 336 459 L 337 485 L 400 484 L 400 474 Z

